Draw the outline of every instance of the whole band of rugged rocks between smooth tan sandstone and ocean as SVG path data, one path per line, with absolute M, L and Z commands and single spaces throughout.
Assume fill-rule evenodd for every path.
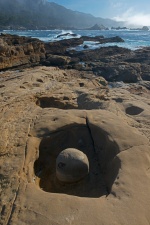
M 0 69 L 36 65 L 58 66 L 63 69 L 90 71 L 109 82 L 150 81 L 150 48 L 132 51 L 110 46 L 90 50 L 87 45 L 84 45 L 83 51 L 72 49 L 72 47 L 83 45 L 84 41 L 96 41 L 98 44 L 103 44 L 124 40 L 120 37 L 82 36 L 44 43 L 35 38 L 1 34 Z

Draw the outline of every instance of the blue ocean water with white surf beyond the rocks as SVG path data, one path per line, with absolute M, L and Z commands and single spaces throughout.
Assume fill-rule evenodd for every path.
M 97 44 L 96 42 L 84 42 L 83 45 L 77 46 L 76 50 L 84 50 L 83 46 L 88 45 L 90 49 L 96 49 L 103 46 L 114 46 L 125 47 L 132 50 L 136 50 L 142 47 L 150 46 L 150 31 L 139 31 L 139 30 L 108 30 L 108 31 L 92 31 L 92 30 L 27 30 L 27 31 L 15 31 L 15 30 L 4 30 L 3 33 L 17 34 L 20 36 L 30 36 L 38 38 L 44 42 L 58 41 L 69 38 L 79 38 L 81 36 L 99 36 L 114 37 L 119 36 L 124 39 L 124 43 L 106 43 Z M 57 37 L 59 35 L 64 35 Z M 74 36 L 76 35 L 76 36 Z

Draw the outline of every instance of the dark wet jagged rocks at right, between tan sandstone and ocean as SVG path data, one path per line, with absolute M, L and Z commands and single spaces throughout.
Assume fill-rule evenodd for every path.
M 102 47 L 96 50 L 89 50 L 87 47 L 85 49 L 82 52 L 68 54 L 79 59 L 74 64 L 80 62 L 80 67 L 73 64 L 73 68 L 93 71 L 94 74 L 103 76 L 107 81 L 134 83 L 140 80 L 150 80 L 149 47 L 136 51 L 117 46 Z

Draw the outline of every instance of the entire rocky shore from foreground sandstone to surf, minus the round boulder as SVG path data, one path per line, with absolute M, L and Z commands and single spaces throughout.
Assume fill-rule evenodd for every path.
M 0 225 L 150 223 L 150 48 L 70 49 L 85 40 L 123 41 L 0 36 Z M 56 176 L 67 148 L 78 182 Z

